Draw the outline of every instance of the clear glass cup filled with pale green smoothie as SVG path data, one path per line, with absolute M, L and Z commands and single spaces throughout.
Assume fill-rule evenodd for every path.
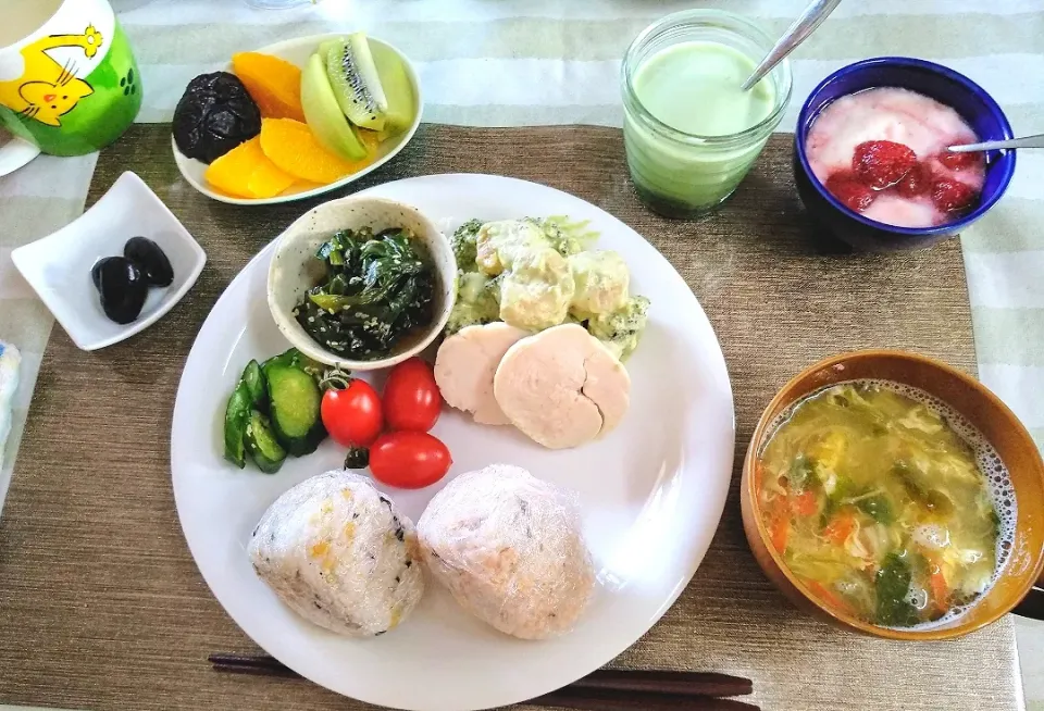
M 638 194 L 667 214 L 708 210 L 735 190 L 772 128 L 737 136 L 776 111 L 775 85 L 741 90 L 756 61 L 714 41 L 682 41 L 634 67 L 631 89 L 641 109 L 626 112 L 627 163 Z M 630 109 L 630 107 L 629 107 Z M 774 127 L 774 124 L 773 124 Z

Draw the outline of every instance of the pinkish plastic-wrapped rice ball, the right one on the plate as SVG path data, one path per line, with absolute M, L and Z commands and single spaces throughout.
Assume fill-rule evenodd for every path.
M 480 620 L 522 639 L 569 632 L 595 585 L 575 497 L 524 469 L 462 474 L 418 521 L 433 576 Z

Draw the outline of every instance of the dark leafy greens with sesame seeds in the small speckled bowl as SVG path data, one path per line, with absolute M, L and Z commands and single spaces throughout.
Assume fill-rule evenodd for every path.
M 374 235 L 343 229 L 315 259 L 326 277 L 309 289 L 294 317 L 320 346 L 344 358 L 376 360 L 434 317 L 435 270 L 405 228 Z

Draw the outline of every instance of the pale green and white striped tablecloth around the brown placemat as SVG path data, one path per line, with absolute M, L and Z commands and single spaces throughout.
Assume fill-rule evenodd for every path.
M 244 0 L 112 0 L 141 68 L 141 122 L 169 121 L 188 80 L 234 51 L 358 28 L 415 61 L 426 121 L 480 126 L 620 125 L 620 59 L 650 21 L 717 7 L 781 33 L 806 2 L 321 0 L 260 11 Z M 1017 134 L 1044 132 L 1044 0 L 842 3 L 793 57 L 794 100 L 780 130 L 793 130 L 800 102 L 828 73 L 883 54 L 945 63 L 989 90 Z M 1044 446 L 1044 151 L 1026 151 L 1018 163 L 1005 200 L 961 244 L 980 377 Z M 10 252 L 83 211 L 94 165 L 95 157 L 45 157 L 0 178 L 0 339 L 24 357 L 14 432 L 0 462 L 0 502 L 52 325 Z M 1019 633 L 1029 708 L 1044 711 L 1044 626 L 1020 623 Z

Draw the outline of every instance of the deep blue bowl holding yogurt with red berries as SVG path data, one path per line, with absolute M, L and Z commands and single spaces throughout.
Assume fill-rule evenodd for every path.
M 989 151 L 986 179 L 978 207 L 937 227 L 896 227 L 868 220 L 826 191 L 808 164 L 805 144 L 819 113 L 835 99 L 877 87 L 910 89 L 953 108 L 979 140 L 1011 138 L 1011 126 L 997 102 L 978 84 L 941 64 L 905 57 L 879 57 L 844 66 L 817 86 L 801 107 L 794 135 L 794 179 L 809 214 L 834 237 L 859 250 L 885 251 L 928 247 L 957 235 L 979 220 L 1008 188 L 1015 151 Z

